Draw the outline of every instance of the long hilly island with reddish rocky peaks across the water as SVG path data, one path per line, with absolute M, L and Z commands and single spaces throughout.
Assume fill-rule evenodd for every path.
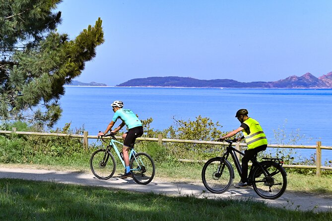
M 321 77 L 306 73 L 271 82 L 239 82 L 230 79 L 199 80 L 191 77 L 135 78 L 116 87 L 195 87 L 195 88 L 332 88 L 332 72 Z

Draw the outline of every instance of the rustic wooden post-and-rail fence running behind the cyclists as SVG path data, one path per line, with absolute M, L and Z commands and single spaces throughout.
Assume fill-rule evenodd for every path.
M 40 132 L 25 132 L 25 131 L 16 131 L 16 128 L 13 127 L 11 131 L 0 130 L 0 134 L 21 134 L 21 135 L 35 135 L 35 136 L 56 136 L 56 137 L 71 137 L 71 138 L 82 138 L 84 148 L 88 148 L 88 139 L 98 139 L 98 136 L 89 135 L 88 131 L 84 131 L 83 135 L 80 134 L 63 134 L 63 133 L 40 133 Z M 122 139 L 118 136 L 117 139 Z M 212 145 L 228 145 L 224 142 L 216 141 L 201 141 L 201 140 L 177 140 L 177 139 L 167 139 L 163 138 L 161 134 L 158 135 L 158 138 L 148 138 L 148 137 L 138 137 L 136 140 L 142 141 L 153 141 L 158 142 L 159 145 L 162 145 L 163 142 L 174 142 L 174 143 L 193 143 L 193 144 L 212 144 Z M 234 143 L 236 149 L 240 150 L 240 147 L 246 147 L 245 143 Z M 322 166 L 322 149 L 332 150 L 330 146 L 322 146 L 321 141 L 316 142 L 316 146 L 309 145 L 274 145 L 270 144 L 267 147 L 269 148 L 292 148 L 292 149 L 316 149 L 316 166 L 310 165 L 283 165 L 286 168 L 310 168 L 316 169 L 316 175 L 321 176 L 322 169 L 332 170 L 332 166 Z M 181 162 L 205 162 L 205 161 L 193 161 L 187 159 L 179 159 Z

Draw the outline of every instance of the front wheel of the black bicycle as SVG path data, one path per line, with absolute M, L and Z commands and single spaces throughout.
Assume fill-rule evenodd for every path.
M 225 159 L 222 161 L 220 157 L 211 158 L 204 164 L 201 178 L 205 188 L 211 193 L 224 193 L 233 183 L 234 169 Z

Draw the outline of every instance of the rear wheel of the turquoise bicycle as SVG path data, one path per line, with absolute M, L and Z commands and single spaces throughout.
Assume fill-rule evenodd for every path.
M 130 162 L 133 180 L 142 185 L 152 181 L 156 168 L 150 155 L 146 153 L 136 153 Z

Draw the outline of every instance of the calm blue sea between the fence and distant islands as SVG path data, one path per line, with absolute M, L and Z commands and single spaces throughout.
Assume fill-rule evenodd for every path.
M 114 100 L 123 101 L 125 108 L 133 110 L 140 119 L 152 117 L 150 125 L 158 130 L 174 125 L 173 118 L 195 120 L 201 115 L 218 121 L 223 131 L 231 131 L 240 126 L 236 111 L 244 108 L 260 122 L 270 144 L 277 143 L 274 131 L 284 131 L 284 143 L 289 137 L 300 135 L 302 139 L 297 144 L 316 145 L 316 141 L 322 141 L 323 146 L 332 146 L 329 89 L 66 86 L 66 94 L 60 100 L 63 114 L 56 127 L 71 122 L 71 128 L 84 127 L 90 135 L 96 135 L 112 120 L 114 112 L 110 105 Z M 315 150 L 296 152 L 309 158 Z M 322 152 L 323 162 L 332 160 L 332 150 Z

